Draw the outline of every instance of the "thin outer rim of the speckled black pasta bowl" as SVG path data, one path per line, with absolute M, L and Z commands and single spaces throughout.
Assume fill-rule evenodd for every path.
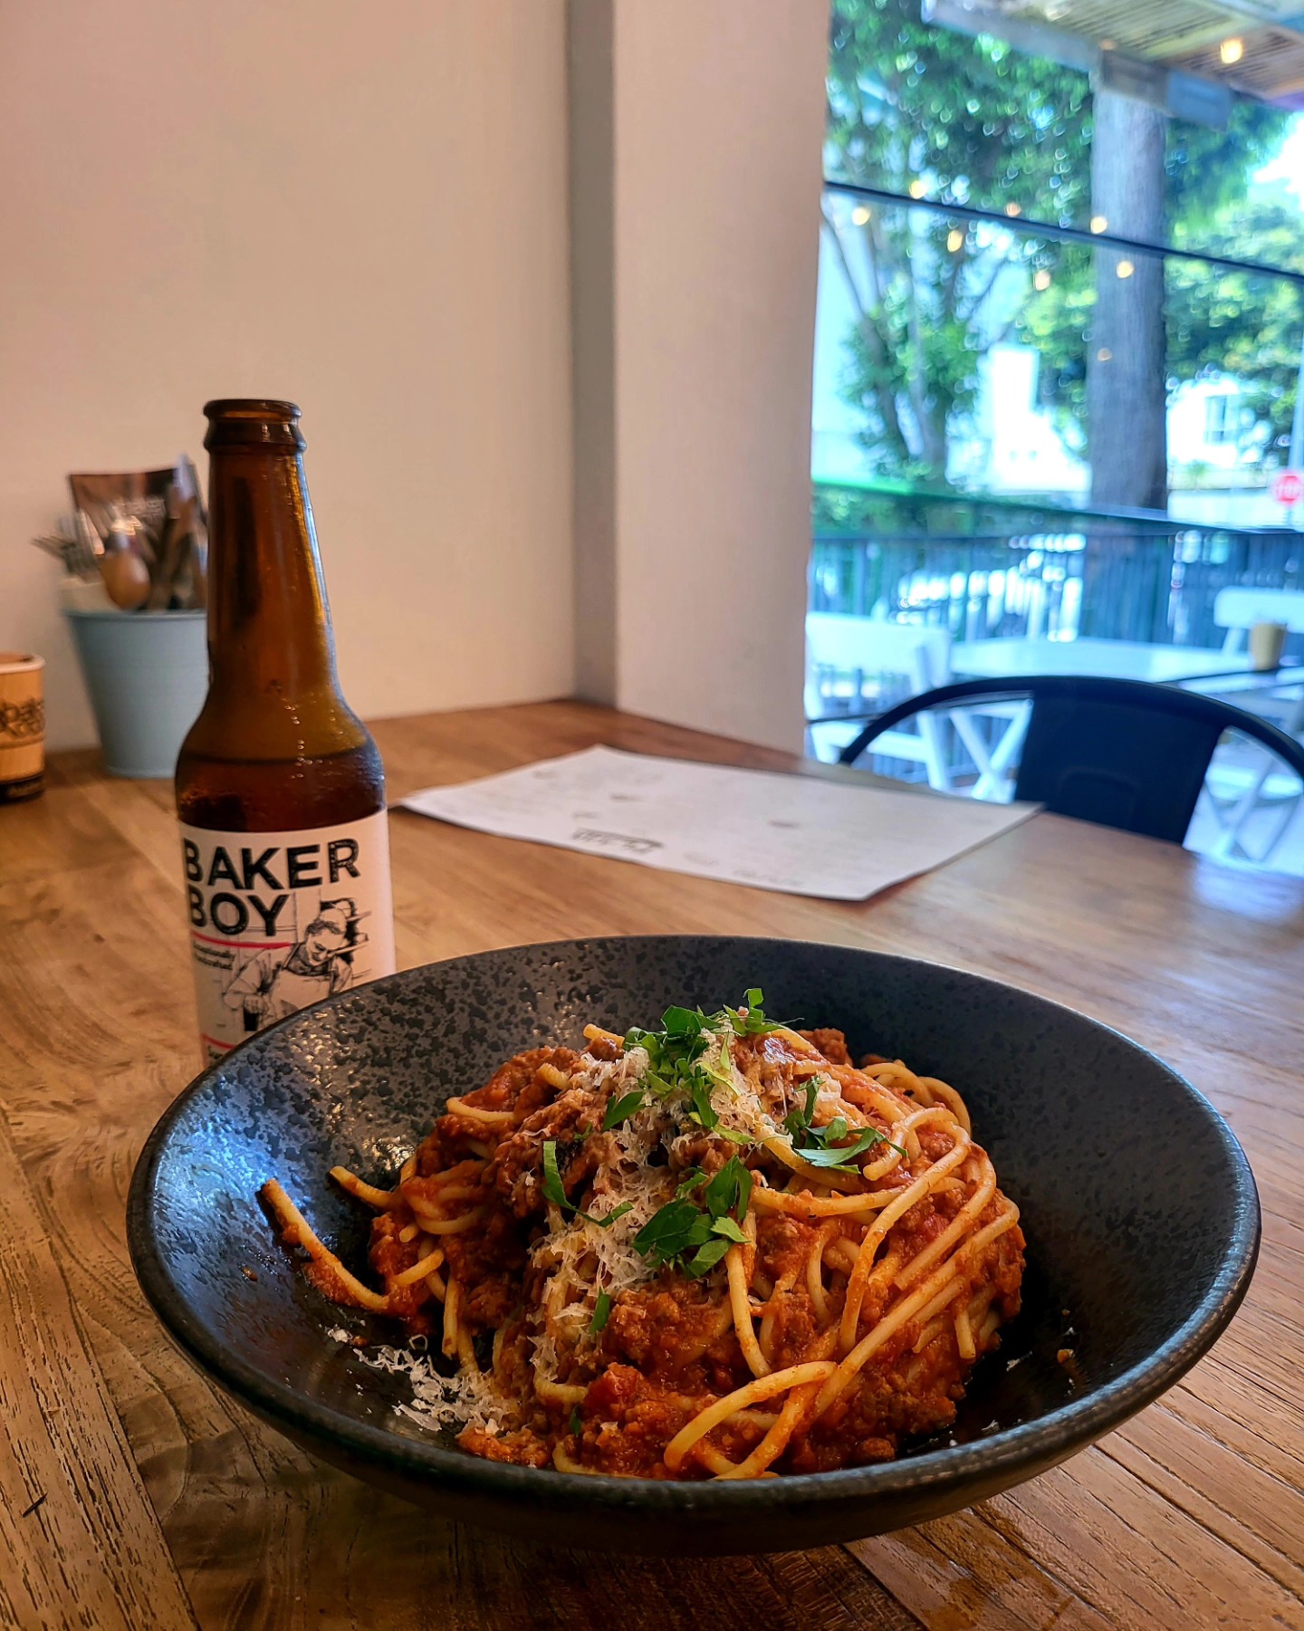
M 502 959 L 513 951 L 528 951 L 531 956 L 569 956 L 579 961 L 585 948 L 606 948 L 616 943 L 647 951 L 668 949 L 675 944 L 685 948 L 742 944 L 753 946 L 758 951 L 761 948 L 768 951 L 804 948 L 807 951 L 831 951 L 839 956 L 856 953 L 867 961 L 888 961 L 906 966 L 913 964 L 916 967 L 939 966 L 921 957 L 901 957 L 893 953 L 880 953 L 859 946 L 822 946 L 815 941 L 787 941 L 743 935 L 593 936 L 587 939 L 505 946 L 497 951 L 448 957 L 437 964 L 425 964 L 424 969 L 404 969 L 373 983 L 388 988 L 394 985 L 401 987 L 406 980 L 430 969 Z M 921 1491 L 944 1494 L 952 1487 L 960 1491 L 967 1484 L 991 1483 L 993 1479 L 999 1481 L 1001 1486 L 1014 1484 L 1020 1479 L 1020 1470 L 1027 1470 L 1022 1476 L 1032 1476 L 1046 1466 L 1063 1461 L 1076 1450 L 1094 1443 L 1104 1434 L 1118 1427 L 1139 1409 L 1144 1409 L 1146 1404 L 1151 1404 L 1161 1393 L 1167 1391 L 1213 1347 L 1240 1306 L 1258 1259 L 1258 1191 L 1245 1151 L 1237 1143 L 1231 1127 L 1227 1127 L 1201 1093 L 1157 1055 L 1151 1054 L 1149 1049 L 1141 1047 L 1139 1042 L 1133 1042 L 1121 1031 L 1115 1031 L 1112 1026 L 1105 1026 L 1099 1019 L 1092 1019 L 1089 1014 L 1082 1014 L 1064 1003 L 1055 1003 L 1033 992 L 1011 987 L 1002 980 L 970 974 L 967 969 L 945 967 L 954 974 L 960 974 L 965 980 L 971 980 L 975 985 L 993 992 L 1015 990 L 1022 998 L 1045 1010 L 1071 1013 L 1076 1019 L 1118 1037 L 1151 1063 L 1157 1065 L 1172 1086 L 1183 1093 L 1198 1112 L 1208 1119 L 1222 1147 L 1227 1181 L 1234 1191 L 1234 1225 L 1231 1238 L 1226 1243 L 1222 1264 L 1208 1292 L 1180 1329 L 1144 1360 L 1123 1372 L 1121 1377 L 1115 1377 L 1113 1381 L 1107 1381 L 1086 1393 L 1081 1399 L 1073 1399 L 1030 1422 L 994 1432 L 989 1439 L 836 1473 L 789 1474 L 786 1478 L 758 1479 L 755 1483 L 732 1479 L 672 1483 L 557 1473 L 551 1468 L 535 1470 L 486 1461 L 460 1450 L 445 1450 L 438 1443 L 424 1443 L 393 1434 L 385 1427 L 354 1421 L 349 1416 L 306 1399 L 293 1386 L 272 1381 L 246 1364 L 236 1349 L 218 1341 L 192 1315 L 168 1274 L 168 1264 L 158 1251 L 155 1236 L 155 1176 L 168 1148 L 173 1125 L 187 1101 L 202 1093 L 207 1083 L 225 1068 L 233 1055 L 227 1055 L 227 1060 L 212 1065 L 196 1076 L 163 1112 L 145 1148 L 140 1151 L 127 1197 L 127 1243 L 135 1275 L 155 1313 L 191 1359 L 202 1370 L 215 1377 L 235 1398 L 262 1414 L 264 1419 L 282 1424 L 292 1437 L 324 1442 L 337 1450 L 346 1450 L 357 1461 L 373 1465 L 390 1474 L 409 1481 L 429 1481 L 432 1486 L 438 1486 L 440 1492 L 448 1497 L 474 1494 L 491 1502 L 517 1507 L 525 1507 L 543 1497 L 556 1504 L 567 1504 L 577 1517 L 584 1517 L 587 1510 L 601 1510 L 608 1517 L 613 1512 L 619 1514 L 624 1510 L 631 1518 L 655 1514 L 665 1517 L 678 1515 L 709 1523 L 712 1518 L 740 1520 L 747 1518 L 748 1514 L 768 1514 L 776 1509 L 800 1509 L 807 1514 L 828 1510 L 831 1515 L 835 1509 L 854 1507 L 866 1501 L 877 1502 L 905 1491 L 911 1494 L 919 1494 Z M 359 990 L 363 990 L 363 987 L 359 987 Z M 267 1039 L 277 1031 L 300 1024 L 305 1014 L 329 1008 L 337 1000 L 326 998 L 326 1001 L 315 1003 L 311 1008 L 300 1010 L 289 1019 L 259 1031 L 258 1036 L 243 1042 L 236 1052 L 266 1045 Z

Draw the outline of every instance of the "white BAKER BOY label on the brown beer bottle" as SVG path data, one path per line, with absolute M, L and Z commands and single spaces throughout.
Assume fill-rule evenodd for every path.
M 394 972 L 385 811 L 306 832 L 181 827 L 209 1063 L 254 1031 Z

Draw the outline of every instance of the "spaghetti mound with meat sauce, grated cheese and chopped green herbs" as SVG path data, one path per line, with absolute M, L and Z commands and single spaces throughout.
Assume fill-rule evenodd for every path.
M 639 1478 L 861 1466 L 949 1425 L 1019 1310 L 1024 1236 L 958 1093 L 747 1005 L 543 1047 L 447 1101 L 337 1303 L 403 1321 L 424 1419 L 497 1461 Z M 367 1357 L 367 1355 L 363 1355 Z M 396 1368 L 381 1350 L 373 1364 Z

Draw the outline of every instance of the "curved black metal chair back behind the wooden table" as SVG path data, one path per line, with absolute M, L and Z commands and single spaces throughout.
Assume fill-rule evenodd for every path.
M 1231 703 L 1175 685 L 1063 674 L 960 680 L 910 696 L 870 719 L 839 762 L 854 765 L 883 731 L 926 709 L 1020 698 L 1032 716 L 1014 796 L 1056 816 L 1182 843 L 1224 731 L 1260 742 L 1304 781 L 1304 747 Z

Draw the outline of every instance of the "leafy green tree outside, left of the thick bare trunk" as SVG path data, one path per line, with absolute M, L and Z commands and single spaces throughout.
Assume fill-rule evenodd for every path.
M 910 0 L 836 0 L 830 38 L 828 150 L 841 179 L 932 197 L 1061 214 L 1082 207 L 1089 130 L 1082 73 L 1001 41 L 924 26 Z M 1038 246 L 937 214 L 870 206 L 825 227 L 856 307 L 846 395 L 864 409 L 877 468 L 945 480 L 947 440 L 978 390 L 980 359 L 1009 333 L 1007 264 Z

